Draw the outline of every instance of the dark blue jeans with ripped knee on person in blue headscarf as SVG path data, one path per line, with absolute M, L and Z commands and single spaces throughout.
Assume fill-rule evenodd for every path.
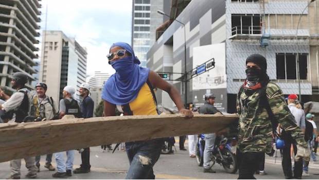
M 153 166 L 161 155 L 162 139 L 126 143 L 130 168 L 126 179 L 155 179 Z

